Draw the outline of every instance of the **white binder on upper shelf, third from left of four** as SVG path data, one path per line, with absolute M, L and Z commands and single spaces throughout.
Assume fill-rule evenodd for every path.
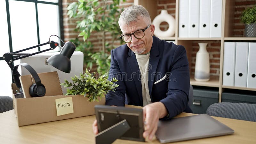
M 199 37 L 210 37 L 211 0 L 200 0 Z

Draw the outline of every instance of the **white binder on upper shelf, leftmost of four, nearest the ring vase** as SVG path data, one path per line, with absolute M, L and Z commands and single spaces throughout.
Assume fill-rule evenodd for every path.
M 179 37 L 188 37 L 188 0 L 179 3 Z

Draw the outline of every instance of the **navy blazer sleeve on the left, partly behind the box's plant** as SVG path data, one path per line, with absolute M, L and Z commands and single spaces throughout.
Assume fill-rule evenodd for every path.
M 113 77 L 116 77 L 118 81 L 115 82 L 115 84 L 118 84 L 119 86 L 116 87 L 115 92 L 110 91 L 107 93 L 106 105 L 124 106 L 125 84 L 122 79 L 122 73 L 120 72 L 118 62 L 115 60 L 115 52 L 111 50 L 111 62 L 110 62 L 108 80 L 111 80 Z

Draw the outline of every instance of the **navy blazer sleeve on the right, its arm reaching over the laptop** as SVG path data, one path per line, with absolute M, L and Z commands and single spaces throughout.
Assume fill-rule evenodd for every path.
M 179 45 L 174 51 L 168 76 L 167 97 L 160 100 L 166 107 L 169 118 L 179 115 L 188 105 L 189 66 L 186 50 Z

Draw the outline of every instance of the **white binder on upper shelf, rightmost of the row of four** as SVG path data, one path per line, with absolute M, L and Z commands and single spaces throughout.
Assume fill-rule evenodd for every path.
M 211 37 L 221 37 L 222 0 L 211 0 Z

